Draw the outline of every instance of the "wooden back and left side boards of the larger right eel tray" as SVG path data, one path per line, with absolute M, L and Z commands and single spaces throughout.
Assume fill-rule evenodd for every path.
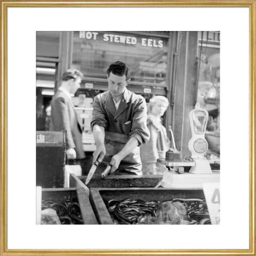
M 91 188 L 90 201 L 99 224 L 113 225 L 107 209 L 111 199 L 143 201 L 170 201 L 173 198 L 205 199 L 203 189 L 167 189 L 167 188 Z

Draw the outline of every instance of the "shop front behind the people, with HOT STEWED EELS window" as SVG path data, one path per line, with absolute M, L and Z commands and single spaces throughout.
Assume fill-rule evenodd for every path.
M 47 130 L 49 126 L 46 109 L 60 85 L 61 74 L 68 68 L 77 68 L 84 79 L 73 100 L 88 146 L 85 151 L 93 150 L 94 147 L 89 146 L 92 140 L 88 125 L 92 99 L 107 90 L 106 70 L 110 63 L 121 60 L 131 70 L 127 89 L 141 94 L 147 102 L 153 95 L 169 99 L 170 107 L 163 116 L 163 123 L 169 137 L 169 127 L 172 127 L 176 146 L 185 156 L 188 150 L 182 145 L 187 144 L 190 135 L 186 119 L 196 101 L 213 113 L 210 130 L 218 128 L 219 108 L 212 106 L 216 105 L 213 101 L 219 95 L 219 78 L 213 77 L 218 63 L 213 66 L 210 62 L 214 54 L 219 54 L 218 32 L 38 31 L 37 116 L 43 121 L 46 119 L 46 123 L 39 129 L 38 122 L 37 130 Z M 211 93 L 214 90 L 215 94 Z M 210 97 L 205 99 L 207 93 Z

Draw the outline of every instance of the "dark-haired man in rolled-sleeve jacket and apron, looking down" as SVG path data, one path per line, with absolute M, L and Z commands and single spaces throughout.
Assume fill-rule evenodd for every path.
M 149 140 L 146 101 L 126 89 L 130 70 L 125 63 L 111 64 L 107 79 L 108 91 L 93 101 L 91 126 L 97 147 L 93 161 L 110 164 L 110 173 L 141 175 L 139 146 Z

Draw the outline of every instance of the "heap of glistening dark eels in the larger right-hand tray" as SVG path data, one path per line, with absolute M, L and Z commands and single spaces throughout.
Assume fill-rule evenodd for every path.
M 115 224 L 211 224 L 206 202 L 198 198 L 150 202 L 113 199 L 107 203 L 107 207 Z

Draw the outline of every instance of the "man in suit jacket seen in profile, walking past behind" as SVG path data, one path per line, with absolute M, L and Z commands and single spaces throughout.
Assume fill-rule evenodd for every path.
M 78 124 L 71 95 L 80 87 L 83 74 L 77 69 L 68 69 L 61 77 L 61 85 L 51 101 L 50 131 L 67 131 L 67 159 L 85 157 L 82 144 L 82 129 Z

